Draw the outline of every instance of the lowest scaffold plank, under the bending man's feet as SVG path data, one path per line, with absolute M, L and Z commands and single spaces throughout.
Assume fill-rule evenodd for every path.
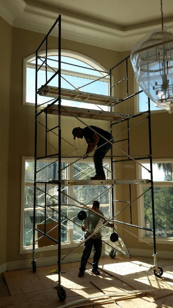
M 58 185 L 58 180 L 52 180 L 49 184 Z M 148 184 L 150 180 L 61 180 L 62 186 L 67 185 L 116 185 L 116 184 Z

